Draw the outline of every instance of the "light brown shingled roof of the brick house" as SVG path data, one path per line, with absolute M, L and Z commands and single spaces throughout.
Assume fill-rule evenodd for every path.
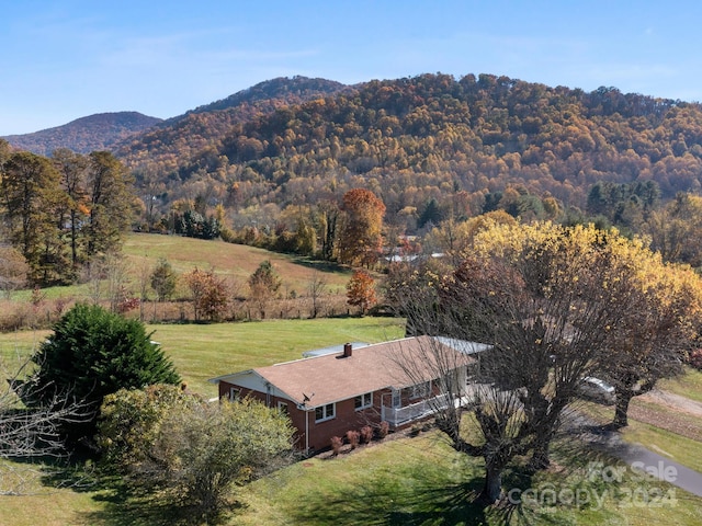
M 457 365 L 473 362 L 469 356 L 435 339 L 419 336 L 353 348 L 349 357 L 343 357 L 342 353 L 327 354 L 252 371 L 297 403 L 303 403 L 303 396 L 307 395 L 312 398 L 308 407 L 318 407 L 387 387 L 411 386 L 419 378 L 433 379 L 438 376 L 437 370 L 440 370 L 431 364 L 437 348 L 441 348 L 445 356 L 451 356 L 452 363 Z M 412 368 L 415 381 L 409 379 L 400 365 L 406 363 L 404 357 L 408 355 L 414 357 L 412 364 L 419 364 L 419 367 Z

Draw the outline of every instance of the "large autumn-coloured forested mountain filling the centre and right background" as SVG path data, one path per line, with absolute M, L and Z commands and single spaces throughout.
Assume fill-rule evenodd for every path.
M 169 134 L 169 161 L 151 162 L 154 148 L 137 142 L 129 155 L 121 150 L 137 180 L 148 171 L 149 181 L 167 182 L 163 204 L 200 196 L 236 209 L 284 208 L 364 186 L 382 198 L 386 220 L 407 225 L 430 202 L 444 215 L 474 215 L 508 188 L 584 208 L 599 181 L 655 181 L 670 198 L 697 191 L 702 173 L 699 104 L 614 88 L 586 93 L 491 75 L 421 75 L 249 112 L 218 138 L 212 115 L 159 130 Z M 200 136 L 192 156 L 195 122 L 210 137 Z M 149 134 L 139 144 L 148 137 L 157 140 Z M 173 147 L 184 144 L 189 155 L 177 157 Z

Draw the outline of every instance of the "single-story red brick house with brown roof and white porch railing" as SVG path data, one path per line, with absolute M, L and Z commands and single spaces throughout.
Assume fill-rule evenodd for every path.
M 452 370 L 443 376 L 451 377 L 454 392 L 464 392 L 476 363 L 469 355 L 475 350 L 441 340 L 416 336 L 359 348 L 347 343 L 341 352 L 313 354 L 210 381 L 218 385 L 219 398 L 253 397 L 285 411 L 296 428 L 297 447 L 320 450 L 329 447 L 332 436 L 344 436 L 347 431 L 382 421 L 390 430 L 405 427 L 431 415 L 442 403 L 455 403 L 440 393 L 437 371 L 445 371 L 445 364 L 451 364 Z

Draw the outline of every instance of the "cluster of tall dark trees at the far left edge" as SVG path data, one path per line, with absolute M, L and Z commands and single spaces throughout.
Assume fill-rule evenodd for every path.
M 133 184 L 106 151 L 61 149 L 49 159 L 0 141 L 2 237 L 23 256 L 30 283 L 73 283 L 118 250 L 137 207 Z

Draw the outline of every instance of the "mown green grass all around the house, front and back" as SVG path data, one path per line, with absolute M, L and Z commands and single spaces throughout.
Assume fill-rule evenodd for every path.
M 215 393 L 208 378 L 250 367 L 296 359 L 310 348 L 346 341 L 377 342 L 403 335 L 403 323 L 389 318 L 276 320 L 223 324 L 149 325 L 194 390 Z M 0 335 L 7 361 L 26 353 L 48 331 Z M 697 385 L 699 377 L 676 380 Z M 605 415 L 603 415 L 605 416 Z M 673 456 L 702 458 L 702 444 L 682 442 L 652 426 L 632 422 L 624 432 L 633 442 L 667 448 Z M 675 446 L 673 446 L 675 443 Z M 702 499 L 669 487 L 625 479 L 619 484 L 588 481 L 582 464 L 591 451 L 556 450 L 554 469 L 533 479 L 508 471 L 507 489 L 556 488 L 579 491 L 588 503 L 557 506 L 522 502 L 514 508 L 486 508 L 474 500 L 483 482 L 483 461 L 456 454 L 435 431 L 363 446 L 337 458 L 315 457 L 280 470 L 240 489 L 242 506 L 226 524 L 259 525 L 636 525 L 702 524 Z M 577 446 L 577 444 L 575 445 Z M 611 460 L 604 459 L 605 465 Z M 683 462 L 684 464 L 684 462 Z M 693 467 L 698 467 L 694 464 Z M 26 465 L 0 462 L 0 478 L 8 469 Z M 653 485 L 652 485 L 653 484 Z M 35 479 L 26 496 L 0 496 L 0 525 L 112 525 L 178 524 L 162 515 L 158 502 L 125 496 L 115 488 L 52 489 Z M 637 491 L 637 500 L 627 499 Z M 629 492 L 629 493 L 627 493 Z M 595 495 L 605 495 L 602 506 Z M 670 495 L 675 500 L 670 499 Z M 646 501 L 644 496 L 650 498 Z M 511 514 L 511 515 L 510 515 Z

